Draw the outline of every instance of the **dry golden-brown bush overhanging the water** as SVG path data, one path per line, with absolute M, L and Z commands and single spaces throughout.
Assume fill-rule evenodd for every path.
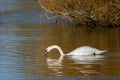
M 38 0 L 43 8 L 82 24 L 120 25 L 120 0 Z

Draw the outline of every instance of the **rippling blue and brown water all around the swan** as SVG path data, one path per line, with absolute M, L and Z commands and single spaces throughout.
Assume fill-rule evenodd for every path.
M 120 79 L 119 27 L 48 24 L 55 20 L 43 24 L 46 19 L 39 17 L 40 7 L 34 0 L 0 0 L 0 4 L 4 8 L 0 8 L 0 80 Z M 65 53 L 83 45 L 108 52 L 60 57 L 53 50 L 45 58 L 44 50 L 53 44 Z

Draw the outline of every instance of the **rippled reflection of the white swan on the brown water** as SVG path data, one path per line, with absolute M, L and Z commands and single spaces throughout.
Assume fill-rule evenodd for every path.
M 70 71 L 71 68 L 74 69 L 73 75 L 76 75 L 74 72 L 77 72 L 77 75 L 88 76 L 93 74 L 98 75 L 100 73 L 100 69 L 98 68 L 100 68 L 104 56 L 60 56 L 58 59 L 46 58 L 46 60 L 48 68 L 51 69 L 56 76 L 62 76 L 63 73 L 66 73 L 66 70 Z

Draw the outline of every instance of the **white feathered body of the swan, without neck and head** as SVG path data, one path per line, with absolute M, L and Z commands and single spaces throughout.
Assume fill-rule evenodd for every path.
M 79 47 L 67 55 L 92 55 L 92 54 L 101 54 L 103 51 L 100 51 L 96 48 L 90 46 Z

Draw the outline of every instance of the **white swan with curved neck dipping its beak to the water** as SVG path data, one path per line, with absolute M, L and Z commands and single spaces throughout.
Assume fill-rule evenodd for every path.
M 107 50 L 98 50 L 98 49 L 90 47 L 90 46 L 82 46 L 82 47 L 79 47 L 79 48 L 73 50 L 72 52 L 70 52 L 68 54 L 64 54 L 62 49 L 58 45 L 52 45 L 52 46 L 49 46 L 48 48 L 46 48 L 45 56 L 52 49 L 57 49 L 61 56 L 64 56 L 64 55 L 68 55 L 68 56 L 69 55 L 70 56 L 74 56 L 74 55 L 97 55 L 97 54 L 101 54 L 101 53 L 107 51 Z

